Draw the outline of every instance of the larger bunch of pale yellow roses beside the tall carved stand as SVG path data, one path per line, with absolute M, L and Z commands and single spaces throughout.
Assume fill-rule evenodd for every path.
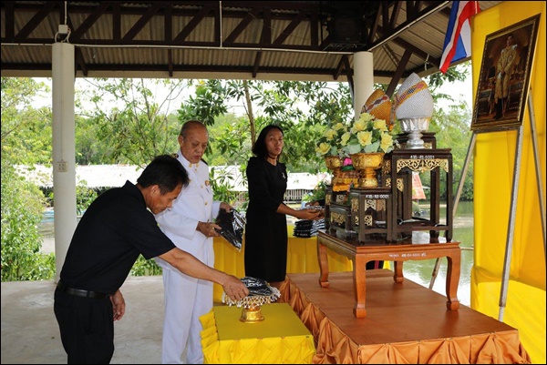
M 346 156 L 350 156 L 361 152 L 391 152 L 397 139 L 389 133 L 384 119 L 376 119 L 365 112 L 361 113 L 350 127 L 348 136 L 341 138 L 340 142 Z

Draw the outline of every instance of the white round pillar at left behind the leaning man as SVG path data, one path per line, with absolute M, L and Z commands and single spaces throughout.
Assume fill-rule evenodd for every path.
M 53 198 L 55 220 L 55 281 L 59 279 L 77 225 L 74 120 L 74 46 L 52 48 Z

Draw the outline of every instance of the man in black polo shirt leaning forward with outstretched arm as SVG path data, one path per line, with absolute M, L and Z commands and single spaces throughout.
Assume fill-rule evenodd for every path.
M 188 182 L 176 158 L 156 157 L 137 185 L 128 181 L 122 188 L 109 189 L 80 219 L 55 291 L 54 311 L 68 363 L 112 359 L 114 320 L 125 313 L 119 288 L 139 254 L 146 259 L 159 257 L 187 275 L 216 282 L 233 300 L 249 293 L 240 279 L 176 248 L 158 227 L 153 214 L 170 208 Z

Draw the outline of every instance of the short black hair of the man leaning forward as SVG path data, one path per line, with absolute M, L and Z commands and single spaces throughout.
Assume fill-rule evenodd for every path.
M 186 188 L 189 182 L 186 169 L 177 158 L 170 155 L 155 157 L 137 179 L 142 188 L 158 185 L 162 195 L 170 193 L 180 184 Z

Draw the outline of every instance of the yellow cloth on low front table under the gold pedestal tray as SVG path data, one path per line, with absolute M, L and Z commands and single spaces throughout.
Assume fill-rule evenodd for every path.
M 314 337 L 287 303 L 262 307 L 264 320 L 243 323 L 242 309 L 215 306 L 201 316 L 206 364 L 311 364 Z

